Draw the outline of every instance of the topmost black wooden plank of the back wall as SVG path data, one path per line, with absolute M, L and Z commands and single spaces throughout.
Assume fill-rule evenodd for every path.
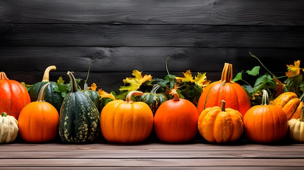
M 302 25 L 303 0 L 1 0 L 2 23 Z

